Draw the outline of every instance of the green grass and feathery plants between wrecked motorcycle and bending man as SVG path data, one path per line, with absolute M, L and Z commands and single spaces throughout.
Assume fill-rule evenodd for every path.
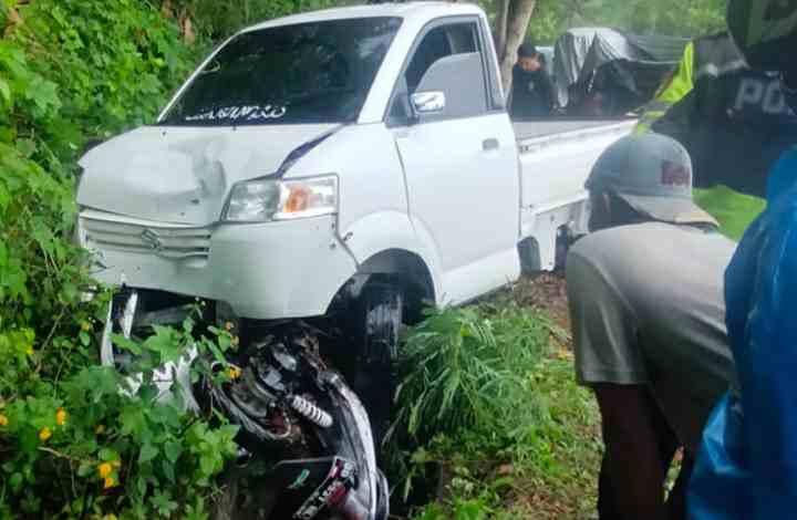
M 403 497 L 431 495 L 415 520 L 594 511 L 599 418 L 567 342 L 546 314 L 506 294 L 410 332 L 392 472 L 406 476 L 394 482 Z

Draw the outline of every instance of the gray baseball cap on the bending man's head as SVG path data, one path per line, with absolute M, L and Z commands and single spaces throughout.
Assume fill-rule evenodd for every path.
M 614 194 L 654 220 L 718 226 L 692 200 L 689 153 L 664 135 L 649 133 L 618 141 L 598 158 L 586 187 Z

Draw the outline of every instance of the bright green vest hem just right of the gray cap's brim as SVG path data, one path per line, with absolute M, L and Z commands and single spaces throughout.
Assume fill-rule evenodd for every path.
M 764 211 L 766 201 L 744 195 L 726 186 L 711 189 L 695 189 L 697 205 L 708 211 L 722 226 L 722 232 L 739 241 L 745 229 Z

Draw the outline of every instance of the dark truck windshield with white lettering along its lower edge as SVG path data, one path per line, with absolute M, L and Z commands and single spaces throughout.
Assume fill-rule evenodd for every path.
M 162 124 L 355 121 L 400 25 L 398 18 L 361 18 L 240 34 L 207 63 Z

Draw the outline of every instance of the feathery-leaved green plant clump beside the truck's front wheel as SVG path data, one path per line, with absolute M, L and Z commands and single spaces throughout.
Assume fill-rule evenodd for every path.
M 532 374 L 550 332 L 547 318 L 517 305 L 435 311 L 406 337 L 393 433 L 421 444 L 441 433 L 527 435 L 541 413 Z

